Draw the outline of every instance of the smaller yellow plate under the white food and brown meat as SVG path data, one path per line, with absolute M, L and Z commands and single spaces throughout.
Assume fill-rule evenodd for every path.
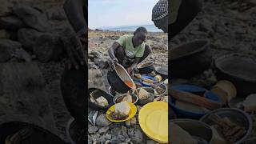
M 129 102 L 129 105 L 130 105 L 130 113 L 128 114 L 128 118 L 123 119 L 123 120 L 115 120 L 115 119 L 110 118 L 108 116 L 108 114 L 110 114 L 110 111 L 114 111 L 115 105 L 111 106 L 110 109 L 106 111 L 106 118 L 108 120 L 110 120 L 111 122 L 125 122 L 125 121 L 129 120 L 130 118 L 134 118 L 134 115 L 137 113 L 137 107 L 133 103 L 130 103 L 130 102 Z

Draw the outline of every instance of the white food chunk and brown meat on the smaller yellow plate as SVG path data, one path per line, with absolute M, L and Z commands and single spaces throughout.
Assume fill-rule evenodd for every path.
M 128 102 L 119 102 L 115 104 L 114 111 L 111 111 L 108 115 L 114 120 L 123 120 L 129 117 L 130 105 Z

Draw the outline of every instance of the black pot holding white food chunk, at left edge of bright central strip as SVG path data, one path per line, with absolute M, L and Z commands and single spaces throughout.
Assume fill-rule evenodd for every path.
M 97 104 L 95 104 L 94 102 L 90 102 L 90 92 L 97 90 L 97 92 L 95 93 L 95 99 L 102 96 L 104 98 L 106 98 L 106 100 L 109 103 L 109 106 L 103 107 L 103 106 L 99 106 Z M 110 94 L 107 94 L 105 91 L 97 89 L 97 88 L 89 88 L 88 89 L 88 106 L 90 106 L 90 108 L 92 108 L 93 110 L 108 110 L 110 108 L 110 106 L 114 105 L 113 102 L 113 98 Z

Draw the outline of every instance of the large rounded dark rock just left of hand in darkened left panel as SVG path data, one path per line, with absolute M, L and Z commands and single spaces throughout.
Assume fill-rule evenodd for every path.
M 33 51 L 40 62 L 58 60 L 64 53 L 63 43 L 57 34 L 41 34 L 34 43 Z

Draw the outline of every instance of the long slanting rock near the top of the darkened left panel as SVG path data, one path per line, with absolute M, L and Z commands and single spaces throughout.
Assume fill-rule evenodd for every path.
M 40 32 L 50 30 L 50 23 L 46 18 L 46 14 L 42 11 L 36 10 L 30 6 L 15 6 L 13 11 L 27 26 Z

